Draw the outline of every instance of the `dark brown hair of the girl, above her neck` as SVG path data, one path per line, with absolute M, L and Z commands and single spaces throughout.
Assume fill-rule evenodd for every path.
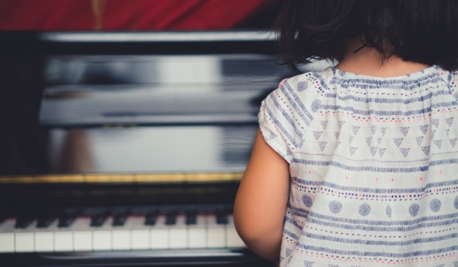
M 384 58 L 458 68 L 458 0 L 284 1 L 275 30 L 293 69 L 314 59 L 341 60 L 357 37 Z

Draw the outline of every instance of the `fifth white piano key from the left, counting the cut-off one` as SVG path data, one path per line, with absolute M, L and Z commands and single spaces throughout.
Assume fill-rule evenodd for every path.
M 92 250 L 92 229 L 90 227 L 91 218 L 76 218 L 74 223 L 69 227 L 73 232 L 73 249 L 74 251 Z

